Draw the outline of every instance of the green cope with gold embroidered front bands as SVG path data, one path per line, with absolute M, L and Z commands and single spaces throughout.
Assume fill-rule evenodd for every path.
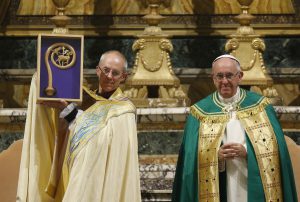
M 284 134 L 267 98 L 240 89 L 237 119 L 246 133 L 249 202 L 297 202 Z M 229 113 L 217 92 L 191 107 L 173 184 L 172 201 L 227 201 L 226 170 L 219 172 L 220 148 Z

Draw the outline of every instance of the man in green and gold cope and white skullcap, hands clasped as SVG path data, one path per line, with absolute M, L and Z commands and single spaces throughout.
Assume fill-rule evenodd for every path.
M 297 202 L 283 131 L 268 99 L 239 88 L 239 61 L 212 63 L 217 91 L 191 107 L 173 201 Z

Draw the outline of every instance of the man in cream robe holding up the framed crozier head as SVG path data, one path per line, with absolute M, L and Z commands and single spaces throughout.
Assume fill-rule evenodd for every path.
M 36 106 L 35 120 L 26 123 L 17 201 L 141 201 L 136 108 L 119 88 L 126 68 L 118 51 L 101 56 L 98 88 L 84 88 L 93 100 L 85 111 L 64 100 Z M 53 138 L 58 122 L 49 117 L 52 108 L 69 122 L 65 137 Z

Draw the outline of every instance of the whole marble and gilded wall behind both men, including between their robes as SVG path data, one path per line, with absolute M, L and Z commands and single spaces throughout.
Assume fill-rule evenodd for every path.
M 37 34 L 53 29 L 51 1 L 0 1 L 0 108 L 27 106 L 30 80 L 36 71 Z M 69 29 L 72 34 L 85 35 L 84 77 L 89 84 L 98 81 L 95 66 L 104 51 L 123 52 L 131 70 L 135 58 L 132 45 L 146 26 L 141 17 L 147 12 L 146 0 L 70 0 Z M 300 0 L 254 0 L 250 12 L 257 17 L 252 25 L 265 41 L 263 59 L 283 104 L 300 106 Z M 211 62 L 225 53 L 240 8 L 237 0 L 164 0 L 161 13 L 167 18 L 160 26 L 174 47 L 170 53 L 174 72 L 194 103 L 215 90 Z M 23 137 L 24 114 L 11 110 L 11 115 L 0 116 L 0 152 Z M 297 113 L 280 118 L 285 134 L 300 143 Z M 185 121 L 182 115 L 180 120 L 178 115 L 168 114 L 137 118 L 143 198 L 150 199 L 152 190 L 170 198 Z M 146 171 L 151 171 L 151 177 Z

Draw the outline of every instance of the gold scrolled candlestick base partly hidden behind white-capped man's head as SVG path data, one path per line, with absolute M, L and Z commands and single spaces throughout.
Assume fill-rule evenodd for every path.
M 249 6 L 253 0 L 238 0 L 241 5 L 241 14 L 235 19 L 240 26 L 236 33 L 229 35 L 230 39 L 225 45 L 225 50 L 237 57 L 241 63 L 244 77 L 241 85 L 250 85 L 251 90 L 263 94 L 272 100 L 272 103 L 280 103 L 282 99 L 277 90 L 272 86 L 273 79 L 266 71 L 263 52 L 266 49 L 264 41 L 255 34 L 251 27 L 251 21 L 255 18 L 249 13 Z

